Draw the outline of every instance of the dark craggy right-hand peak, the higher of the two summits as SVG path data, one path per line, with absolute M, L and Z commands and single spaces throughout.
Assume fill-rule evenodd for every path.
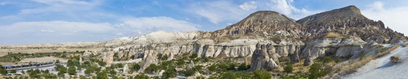
M 308 33 L 303 37 L 315 37 L 327 32 L 353 35 L 364 41 L 375 41 L 379 44 L 406 41 L 402 33 L 386 28 L 381 21 L 370 20 L 361 14 L 360 9 L 348 6 L 327 12 L 311 15 L 296 21 Z

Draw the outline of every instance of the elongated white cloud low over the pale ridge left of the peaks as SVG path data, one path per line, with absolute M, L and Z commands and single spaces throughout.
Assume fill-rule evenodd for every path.
M 175 32 L 185 32 L 197 30 L 197 24 L 183 20 L 176 20 L 170 17 L 140 17 L 124 19 L 123 25 L 137 29 L 138 32 L 150 32 L 155 30 L 166 30 Z

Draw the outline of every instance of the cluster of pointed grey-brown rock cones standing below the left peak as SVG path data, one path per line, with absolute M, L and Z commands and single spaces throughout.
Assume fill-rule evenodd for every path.
M 257 49 L 252 54 L 250 71 L 257 69 L 267 70 L 276 68 L 277 65 L 272 58 L 269 58 L 266 45 L 257 44 Z

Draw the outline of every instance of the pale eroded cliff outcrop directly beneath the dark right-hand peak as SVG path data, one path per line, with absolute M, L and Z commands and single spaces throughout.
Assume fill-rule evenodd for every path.
M 359 37 L 329 32 L 319 38 L 308 41 L 302 54 L 307 54 L 308 50 L 311 50 L 310 58 L 312 59 L 323 57 L 326 54 L 346 57 L 352 56 L 355 51 L 361 50 L 364 44 L 366 42 Z

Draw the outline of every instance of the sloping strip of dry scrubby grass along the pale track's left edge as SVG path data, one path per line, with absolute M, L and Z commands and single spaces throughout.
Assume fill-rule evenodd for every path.
M 377 57 L 381 57 L 381 56 L 384 56 L 386 54 L 389 54 L 389 53 L 391 53 L 391 51 L 393 51 L 394 49 L 397 49 L 398 47 L 399 46 L 393 46 L 393 47 L 390 47 L 390 48 L 383 48 L 383 49 L 380 49 L 380 50 L 376 51 L 377 52 L 376 54 L 374 54 L 372 56 L 366 56 L 363 59 L 361 59 L 360 61 L 351 62 L 349 64 L 344 64 L 344 65 L 341 65 L 341 66 L 336 66 L 332 73 L 338 73 L 338 74 L 335 74 L 335 75 L 344 75 L 344 74 L 349 74 L 349 73 L 355 72 L 357 69 L 364 66 L 366 63 L 370 62 L 371 60 L 373 60 L 373 59 L 375 59 Z

